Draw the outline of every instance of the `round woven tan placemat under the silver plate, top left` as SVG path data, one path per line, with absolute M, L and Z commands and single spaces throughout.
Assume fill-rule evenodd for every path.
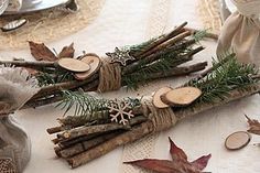
M 26 41 L 52 42 L 84 29 L 100 12 L 105 0 L 79 0 L 80 10 L 68 13 L 63 10 L 51 9 L 23 15 L 29 22 L 21 29 L 1 33 L 0 50 L 22 48 Z M 0 25 L 18 17 L 1 17 Z

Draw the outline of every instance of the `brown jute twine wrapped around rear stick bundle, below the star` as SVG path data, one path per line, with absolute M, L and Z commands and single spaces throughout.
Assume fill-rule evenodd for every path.
M 99 69 L 99 85 L 98 91 L 118 90 L 121 87 L 121 66 L 118 63 L 109 63 L 107 60 L 102 61 Z

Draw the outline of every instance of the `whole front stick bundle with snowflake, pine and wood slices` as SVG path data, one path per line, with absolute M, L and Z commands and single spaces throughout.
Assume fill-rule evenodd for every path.
M 230 53 L 214 61 L 213 67 L 199 77 L 177 88 L 161 88 L 151 97 L 105 100 L 68 91 L 67 96 L 75 96 L 76 116 L 58 119 L 61 126 L 47 132 L 56 134 L 53 142 L 57 156 L 74 169 L 120 145 L 174 127 L 184 118 L 257 94 L 259 78 L 256 66 L 238 63 Z M 82 107 L 84 104 L 87 107 Z M 62 105 L 71 109 L 72 99 Z

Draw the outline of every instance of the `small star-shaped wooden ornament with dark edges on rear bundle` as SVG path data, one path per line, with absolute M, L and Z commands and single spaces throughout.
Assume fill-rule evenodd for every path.
M 115 48 L 113 53 L 106 53 L 111 58 L 111 63 L 120 63 L 122 66 L 127 65 L 127 61 L 134 61 L 136 58 L 130 55 L 129 50 Z

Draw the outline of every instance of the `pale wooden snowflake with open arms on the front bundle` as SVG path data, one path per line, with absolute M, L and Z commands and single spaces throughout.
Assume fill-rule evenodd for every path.
M 111 121 L 127 125 L 127 122 L 134 117 L 130 107 L 130 102 L 116 99 L 108 106 L 108 108 Z

